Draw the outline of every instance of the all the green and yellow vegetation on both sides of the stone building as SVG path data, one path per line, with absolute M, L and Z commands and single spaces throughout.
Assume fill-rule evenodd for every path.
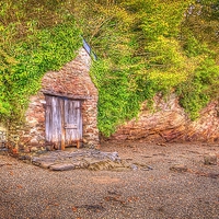
M 110 136 L 157 93 L 176 92 L 192 119 L 219 99 L 218 1 L 3 0 L 0 115 L 25 110 L 42 76 L 72 59 L 84 35 L 97 55 L 99 128 Z

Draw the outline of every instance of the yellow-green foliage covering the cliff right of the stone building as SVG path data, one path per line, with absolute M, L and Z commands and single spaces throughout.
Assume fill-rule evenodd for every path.
M 197 118 L 199 111 L 217 96 L 218 81 L 212 51 L 216 47 L 209 42 L 200 44 L 197 28 L 195 32 L 191 28 L 195 12 L 188 12 L 192 5 L 197 12 L 199 3 L 189 0 L 95 2 L 83 1 L 84 11 L 78 10 L 77 18 L 99 56 L 92 78 L 100 92 L 102 134 L 111 135 L 117 125 L 136 116 L 140 103 L 146 100 L 151 103 L 158 92 L 176 91 L 191 118 Z M 209 1 L 205 8 L 209 8 Z M 201 23 L 203 18 L 196 15 L 195 22 Z M 204 72 L 209 76 L 207 82 Z

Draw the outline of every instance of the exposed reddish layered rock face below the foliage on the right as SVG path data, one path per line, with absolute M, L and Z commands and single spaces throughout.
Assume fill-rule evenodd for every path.
M 200 117 L 192 122 L 178 100 L 171 94 L 168 100 L 154 97 L 153 112 L 147 102 L 141 106 L 138 118 L 119 126 L 111 137 L 116 140 L 143 139 L 145 141 L 219 141 L 219 105 L 211 102 L 200 112 Z

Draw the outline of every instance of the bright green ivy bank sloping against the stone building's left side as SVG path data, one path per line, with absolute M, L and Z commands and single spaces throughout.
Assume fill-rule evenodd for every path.
M 22 119 L 30 95 L 41 89 L 41 79 L 72 60 L 81 46 L 81 32 L 68 19 L 54 27 L 34 28 L 5 53 L 0 69 L 0 116 L 2 120 Z M 8 47 L 9 48 L 9 47 Z

